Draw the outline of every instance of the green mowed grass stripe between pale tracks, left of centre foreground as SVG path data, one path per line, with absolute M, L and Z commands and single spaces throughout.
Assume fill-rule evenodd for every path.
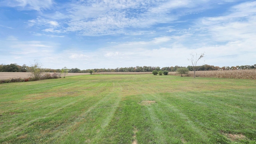
M 102 99 L 80 114 L 66 130 L 57 134 L 57 136 L 61 135 L 60 138 L 56 138 L 56 136 L 52 138 L 52 142 L 70 144 L 73 142 L 90 143 L 99 140 L 122 98 L 122 95 L 117 91 L 121 91 L 122 87 L 115 85 L 113 84 L 111 89 L 106 90 Z

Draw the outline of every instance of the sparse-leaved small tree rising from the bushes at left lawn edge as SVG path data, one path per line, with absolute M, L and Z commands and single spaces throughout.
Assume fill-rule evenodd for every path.
M 34 77 L 34 80 L 40 80 L 42 75 L 42 64 L 39 60 L 34 60 L 34 63 L 30 65 L 31 75 Z

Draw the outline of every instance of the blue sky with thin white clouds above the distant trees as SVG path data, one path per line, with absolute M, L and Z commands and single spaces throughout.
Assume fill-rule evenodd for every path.
M 61 69 L 256 64 L 256 1 L 0 0 L 0 64 Z

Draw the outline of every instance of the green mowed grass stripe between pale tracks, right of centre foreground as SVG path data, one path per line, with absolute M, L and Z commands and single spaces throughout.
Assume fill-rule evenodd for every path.
M 157 103 L 148 106 L 152 111 L 151 116 L 156 119 L 154 124 L 164 129 L 164 134 L 156 132 L 158 137 L 166 137 L 167 140 L 158 143 L 209 143 L 207 134 L 196 126 L 189 118 L 179 110 L 179 106 L 173 105 L 173 100 L 164 99 L 163 95 L 155 94 L 152 99 Z

